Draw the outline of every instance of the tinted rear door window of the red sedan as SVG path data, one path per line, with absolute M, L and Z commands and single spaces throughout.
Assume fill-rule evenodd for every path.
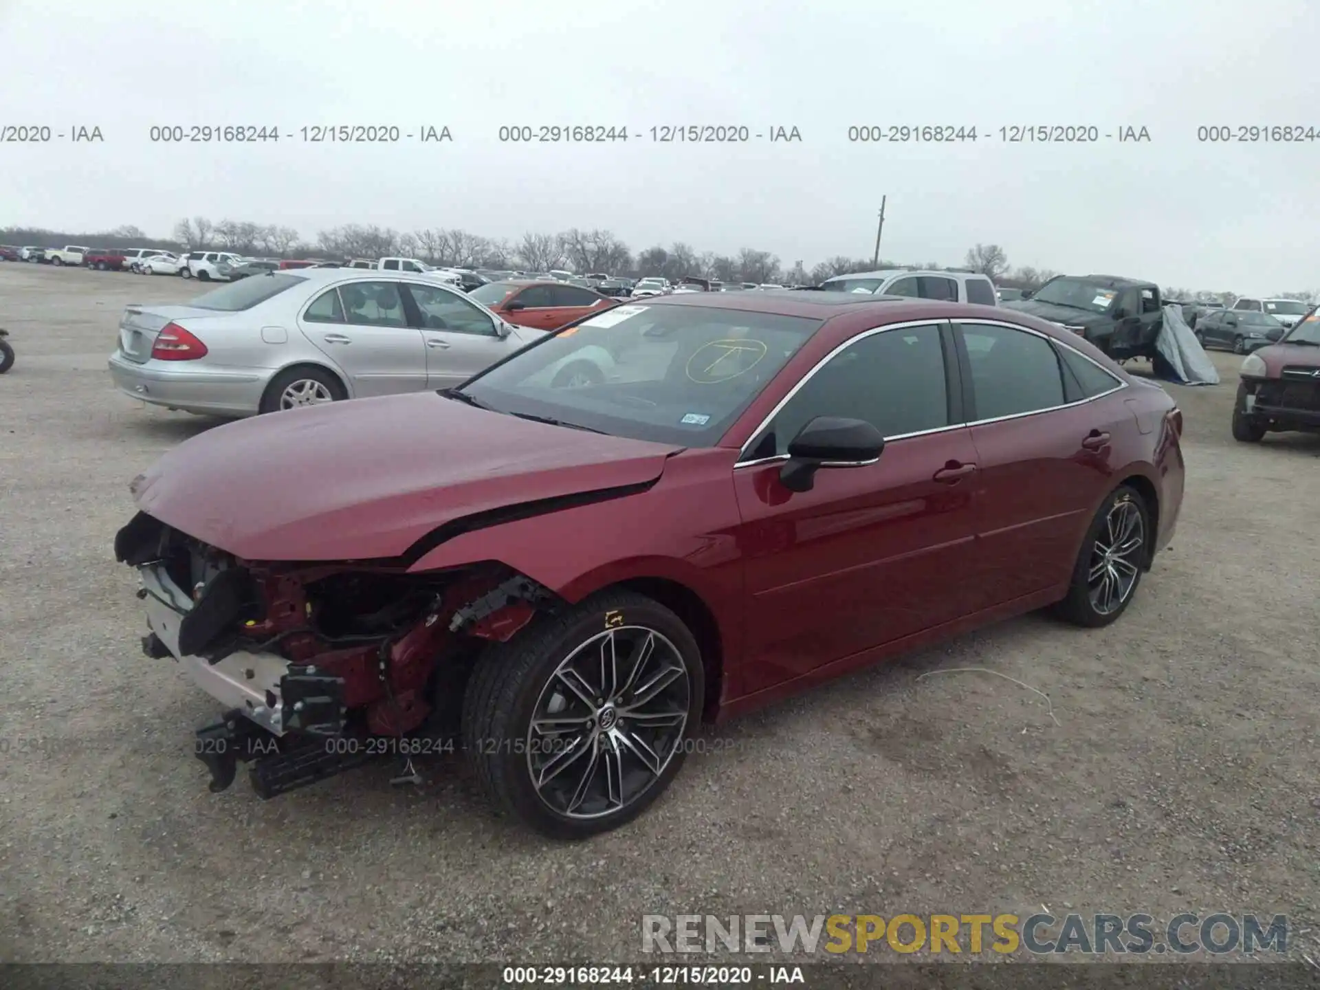
M 977 420 L 1064 404 L 1059 358 L 1044 338 L 1003 326 L 964 323 L 962 339 L 972 363 Z

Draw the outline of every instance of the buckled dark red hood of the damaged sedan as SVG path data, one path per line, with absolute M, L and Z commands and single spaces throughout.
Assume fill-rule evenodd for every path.
M 132 490 L 143 512 L 236 557 L 364 560 L 474 512 L 652 482 L 681 449 L 416 392 L 218 426 Z

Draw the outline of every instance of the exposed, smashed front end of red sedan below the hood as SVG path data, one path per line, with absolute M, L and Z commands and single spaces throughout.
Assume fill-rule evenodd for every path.
M 144 512 L 115 556 L 141 578 L 144 652 L 189 668 L 228 706 L 197 734 L 211 789 L 244 762 L 263 797 L 388 750 L 360 741 L 457 734 L 482 645 L 558 603 L 496 562 L 408 574 L 408 560 L 246 561 Z

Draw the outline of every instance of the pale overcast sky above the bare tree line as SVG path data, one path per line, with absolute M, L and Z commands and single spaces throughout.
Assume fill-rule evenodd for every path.
M 919 9 L 916 9 L 919 8 Z M 1315 0 L 0 0 L 0 226 L 165 235 L 185 215 L 297 227 L 603 227 L 634 249 L 882 255 L 1195 289 L 1320 288 Z M 153 125 L 275 125 L 277 144 L 158 144 Z M 305 144 L 375 124 L 397 144 Z M 516 145 L 502 125 L 626 125 L 626 143 Z M 652 127 L 799 128 L 800 143 L 657 144 Z M 850 125 L 977 127 L 857 144 Z M 1098 144 L 1001 127 L 1096 125 Z M 100 144 L 71 144 L 74 127 Z M 453 143 L 422 144 L 424 127 Z M 1119 144 L 1123 127 L 1148 143 Z M 1214 144 L 1201 125 L 1317 140 Z M 1105 139 L 1111 133 L 1114 137 Z

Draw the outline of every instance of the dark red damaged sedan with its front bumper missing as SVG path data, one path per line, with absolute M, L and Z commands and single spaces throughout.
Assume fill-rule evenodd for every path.
M 227 709 L 213 791 L 457 738 L 496 808 L 582 837 L 704 721 L 1044 606 L 1117 619 L 1173 533 L 1181 426 L 1026 314 L 669 296 L 455 389 L 195 437 L 135 479 L 115 552 L 144 651 Z

